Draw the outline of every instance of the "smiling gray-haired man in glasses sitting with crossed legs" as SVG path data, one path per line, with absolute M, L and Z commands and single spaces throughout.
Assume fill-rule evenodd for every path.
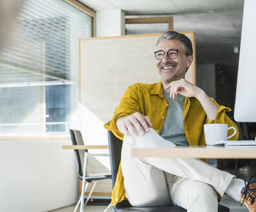
M 256 212 L 256 186 L 193 158 L 132 158 L 132 148 L 205 145 L 203 125 L 236 127 L 226 111 L 185 74 L 193 62 L 191 41 L 168 31 L 156 43 L 156 69 L 162 81 L 136 83 L 123 94 L 105 128 L 123 139 L 121 164 L 112 205 L 126 197 L 132 206 L 184 207 L 189 212 L 217 212 L 218 195 L 227 193 Z M 237 129 L 238 132 L 238 129 Z M 123 136 L 124 134 L 124 136 Z M 238 133 L 233 136 L 237 140 Z M 242 191 L 242 193 L 241 193 Z

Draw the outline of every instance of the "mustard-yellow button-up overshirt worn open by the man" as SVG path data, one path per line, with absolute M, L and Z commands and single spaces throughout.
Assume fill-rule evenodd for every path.
M 217 102 L 210 98 L 216 105 Z M 149 116 L 152 128 L 160 134 L 165 122 L 167 113 L 167 100 L 162 89 L 162 82 L 153 84 L 136 83 L 131 85 L 123 94 L 120 104 L 116 107 L 114 115 L 110 122 L 105 123 L 105 129 L 112 131 L 114 135 L 123 140 L 123 134 L 116 127 L 116 120 L 122 116 L 129 116 L 134 112 L 140 112 L 144 116 Z M 215 120 L 209 120 L 206 112 L 202 108 L 197 98 L 185 98 L 184 101 L 184 131 L 189 145 L 206 145 L 204 140 L 203 126 L 206 123 L 226 123 L 229 127 L 233 126 L 237 129 L 226 115 L 226 111 L 231 111 L 228 107 L 218 105 Z M 163 118 L 164 117 L 164 118 Z M 239 133 L 231 138 L 237 140 Z M 231 134 L 232 132 L 230 132 Z M 230 135 L 229 134 L 229 135 Z M 111 204 L 114 206 L 118 202 L 122 202 L 125 198 L 125 189 L 123 187 L 123 175 L 121 165 L 116 176 L 116 183 L 112 191 Z

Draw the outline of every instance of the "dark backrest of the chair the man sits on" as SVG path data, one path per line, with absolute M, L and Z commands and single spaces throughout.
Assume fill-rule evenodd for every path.
M 112 187 L 116 182 L 116 175 L 118 173 L 119 164 L 121 161 L 121 151 L 123 141 L 116 138 L 111 131 L 107 131 L 107 137 L 109 140 L 109 156 L 111 161 L 111 173 L 112 173 Z

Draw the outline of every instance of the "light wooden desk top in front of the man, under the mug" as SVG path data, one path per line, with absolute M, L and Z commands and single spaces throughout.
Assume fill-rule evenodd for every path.
M 256 146 L 189 146 L 165 149 L 132 149 L 131 156 L 160 158 L 256 158 Z

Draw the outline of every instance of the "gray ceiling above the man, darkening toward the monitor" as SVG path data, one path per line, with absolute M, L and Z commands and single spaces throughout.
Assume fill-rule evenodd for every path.
M 125 16 L 173 16 L 176 31 L 195 31 L 197 64 L 237 66 L 244 0 L 80 0 L 95 11 L 123 10 Z M 140 33 L 127 26 L 128 30 Z M 156 32 L 164 25 L 151 26 Z M 150 31 L 141 25 L 142 32 Z M 151 33 L 154 31 L 151 31 Z

